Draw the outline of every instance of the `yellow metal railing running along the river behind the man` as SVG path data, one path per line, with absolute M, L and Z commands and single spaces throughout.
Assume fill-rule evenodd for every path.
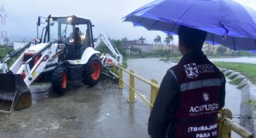
M 158 89 L 159 89 L 157 80 L 154 80 L 154 79 L 151 79 L 151 81 L 146 80 L 143 77 L 140 77 L 134 74 L 133 70 L 130 70 L 130 71 L 125 70 L 125 68 L 123 68 L 122 65 L 114 65 L 113 67 L 114 73 L 117 73 L 117 69 L 116 69 L 117 67 L 119 68 L 119 88 L 123 88 L 123 83 L 125 83 L 125 85 L 129 87 L 129 101 L 130 102 L 135 101 L 134 93 L 136 93 L 137 95 L 139 95 L 140 98 L 142 98 L 149 105 L 150 111 L 151 111 L 155 102 L 155 98 L 157 97 L 157 94 L 158 94 Z M 130 74 L 130 84 L 126 83 L 123 80 L 123 71 Z M 134 77 L 151 86 L 150 102 L 146 100 L 146 98 L 143 97 L 142 94 L 140 94 L 140 92 L 136 91 L 136 89 L 134 88 Z M 236 122 L 233 122 L 231 120 L 232 118 L 230 117 L 228 118 L 226 116 L 232 116 L 232 113 L 230 112 L 230 110 L 223 109 L 219 111 L 219 115 L 218 115 L 219 137 L 221 138 L 231 137 L 231 130 L 239 134 L 241 137 L 246 137 L 246 138 L 252 137 L 252 134 L 249 131 L 245 130 L 245 128 L 241 127 Z

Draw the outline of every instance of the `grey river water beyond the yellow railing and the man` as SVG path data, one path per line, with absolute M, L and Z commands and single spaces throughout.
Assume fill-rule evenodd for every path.
M 240 59 L 240 58 L 238 58 Z M 250 59 L 250 60 L 249 60 Z M 225 61 L 225 59 L 211 59 L 212 61 Z M 231 58 L 230 61 L 236 61 L 234 58 Z M 245 59 L 241 59 L 245 61 Z M 256 58 L 248 58 L 246 61 L 256 64 Z M 255 61 L 255 62 L 253 62 Z M 228 62 L 228 61 L 227 61 Z M 161 80 L 166 74 L 166 71 L 176 65 L 174 62 L 163 62 L 159 58 L 141 58 L 141 59 L 128 59 L 128 70 L 133 70 L 135 74 L 151 80 L 155 79 L 160 85 Z M 123 73 L 123 78 L 126 82 L 129 82 L 129 76 L 127 73 Z M 226 79 L 229 82 L 229 79 Z M 231 110 L 233 115 L 240 115 L 240 102 L 241 102 L 241 92 L 236 88 L 237 86 L 230 85 L 226 83 L 226 98 L 225 98 L 225 107 L 226 109 Z M 126 87 L 127 88 L 127 87 Z M 148 100 L 150 100 L 150 86 L 146 83 L 141 82 L 140 80 L 135 79 L 135 88 L 141 94 L 144 95 Z M 136 96 L 137 102 L 144 102 L 141 98 Z M 146 103 L 145 103 L 145 106 Z M 239 119 L 234 118 L 233 121 L 239 122 Z M 237 134 L 232 133 L 232 137 L 239 137 Z

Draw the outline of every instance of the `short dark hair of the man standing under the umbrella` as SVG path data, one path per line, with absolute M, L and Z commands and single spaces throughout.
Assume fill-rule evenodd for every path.
M 178 35 L 179 39 L 185 43 L 187 49 L 201 50 L 207 32 L 181 25 L 178 29 Z

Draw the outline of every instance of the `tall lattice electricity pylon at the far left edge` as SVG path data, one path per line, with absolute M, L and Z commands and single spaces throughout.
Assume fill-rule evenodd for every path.
M 5 14 L 5 10 L 4 10 L 4 5 L 1 5 L 1 10 L 0 10 L 0 17 L 1 17 L 1 43 L 0 44 L 4 44 L 4 39 L 7 38 L 7 31 L 4 30 L 4 26 L 5 26 L 5 17 L 7 17 L 7 15 Z

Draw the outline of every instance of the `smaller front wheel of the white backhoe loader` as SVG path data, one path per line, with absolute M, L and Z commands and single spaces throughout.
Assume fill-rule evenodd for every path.
M 52 88 L 55 93 L 64 94 L 67 88 L 67 73 L 64 67 L 56 67 L 52 72 Z

